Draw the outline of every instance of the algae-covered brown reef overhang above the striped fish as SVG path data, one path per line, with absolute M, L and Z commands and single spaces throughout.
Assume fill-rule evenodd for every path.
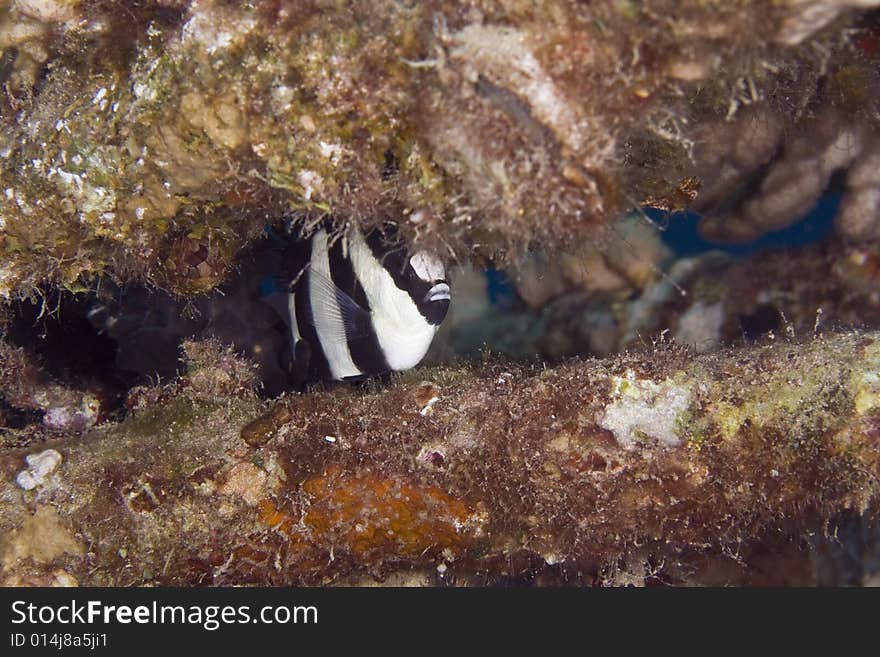
M 599 239 L 726 187 L 703 146 L 744 109 L 775 118 L 737 178 L 780 130 L 819 161 L 764 179 L 779 225 L 876 126 L 876 5 L 5 0 L 0 297 L 205 292 L 284 213 L 391 219 L 459 258 Z

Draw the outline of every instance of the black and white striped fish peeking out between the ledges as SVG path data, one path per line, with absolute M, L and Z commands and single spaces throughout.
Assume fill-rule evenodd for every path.
M 290 371 L 297 385 L 357 381 L 415 367 L 446 317 L 443 263 L 382 231 L 320 228 L 284 254 Z

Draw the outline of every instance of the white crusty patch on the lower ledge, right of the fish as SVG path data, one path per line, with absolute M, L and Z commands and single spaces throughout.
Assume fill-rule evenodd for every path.
M 646 439 L 669 447 L 681 444 L 679 419 L 691 402 L 691 391 L 669 379 L 656 383 L 637 379 L 632 371 L 615 377 L 614 401 L 596 421 L 614 434 L 621 446 L 632 449 Z

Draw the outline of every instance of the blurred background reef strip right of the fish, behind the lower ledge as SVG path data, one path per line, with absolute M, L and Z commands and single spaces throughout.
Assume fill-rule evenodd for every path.
M 641 253 L 634 248 L 631 255 Z M 457 277 L 464 283 L 459 300 L 467 295 L 461 301 L 467 305 L 453 306 L 435 358 L 478 359 L 489 348 L 516 360 L 555 363 L 607 356 L 661 336 L 704 353 L 764 336 L 880 328 L 880 251 L 872 243 L 827 239 L 739 258 L 706 251 L 658 261 L 641 285 L 616 288 L 603 288 L 608 279 L 602 276 L 575 285 L 560 257 L 539 254 L 530 262 L 540 267 L 521 267 L 510 277 L 522 303 L 507 309 L 474 289 L 485 288 L 482 278 L 467 271 Z

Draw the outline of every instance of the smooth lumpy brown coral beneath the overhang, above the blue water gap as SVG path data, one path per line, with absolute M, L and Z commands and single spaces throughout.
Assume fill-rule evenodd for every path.
M 852 84 L 870 84 L 860 79 Z M 865 91 L 876 96 L 876 91 Z M 706 126 L 700 153 L 712 173 L 693 207 L 705 214 L 702 232 L 719 241 L 748 242 L 800 220 L 828 189 L 832 176 L 846 173 L 845 210 L 838 221 L 847 237 L 874 239 L 877 210 L 874 128 L 834 110 L 819 113 L 810 128 L 785 135 L 768 112 L 741 113 L 734 122 Z M 718 135 L 721 135 L 720 137 Z M 870 171 L 871 173 L 867 173 Z

